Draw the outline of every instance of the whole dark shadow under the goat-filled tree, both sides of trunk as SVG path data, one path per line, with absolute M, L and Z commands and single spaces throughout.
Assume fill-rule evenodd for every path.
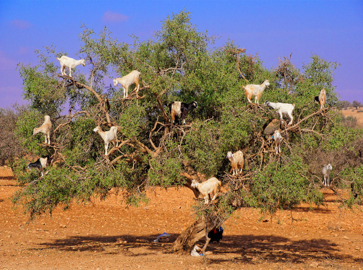
M 155 243 L 158 235 L 148 236 L 73 236 L 40 244 L 39 249 L 56 249 L 70 252 L 102 251 L 106 254 L 124 254 L 126 256 L 150 255 L 169 247 L 177 235 L 170 237 L 169 243 Z M 125 238 L 126 244 L 119 238 Z M 136 240 L 146 240 L 140 242 Z M 200 246 L 205 244 L 203 238 L 197 242 Z M 291 240 L 280 236 L 239 235 L 224 236 L 220 244 L 209 244 L 207 250 L 213 251 L 208 255 L 209 263 L 234 262 L 258 264 L 261 261 L 304 263 L 310 260 L 334 259 L 340 262 L 360 262 L 362 258 L 343 254 L 341 247 L 325 239 Z M 337 252 L 335 252 L 337 251 Z

